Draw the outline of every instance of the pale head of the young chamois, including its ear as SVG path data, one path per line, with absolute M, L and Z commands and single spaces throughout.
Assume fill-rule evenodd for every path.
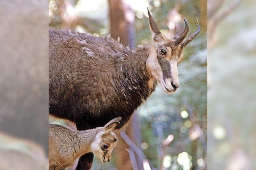
M 120 124 L 121 117 L 116 117 L 109 121 L 101 131 L 98 132 L 94 142 L 91 144 L 92 152 L 100 160 L 106 163 L 111 160 L 111 153 L 117 144 L 117 137 L 114 130 Z

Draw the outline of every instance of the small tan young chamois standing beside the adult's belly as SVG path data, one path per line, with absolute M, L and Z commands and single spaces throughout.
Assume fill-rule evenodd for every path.
M 104 127 L 86 131 L 73 131 L 61 125 L 49 124 L 49 169 L 64 170 L 89 152 L 93 152 L 101 163 L 109 162 L 117 144 L 117 137 L 112 131 L 120 120 L 121 117 L 117 117 Z

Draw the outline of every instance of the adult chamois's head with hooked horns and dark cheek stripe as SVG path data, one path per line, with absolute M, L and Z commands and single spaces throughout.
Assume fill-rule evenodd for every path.
M 154 77 L 160 83 L 164 92 L 171 93 L 180 86 L 178 63 L 183 58 L 182 49 L 196 37 L 200 31 L 200 26 L 198 25 L 196 32 L 184 40 L 189 30 L 188 22 L 184 19 L 185 28 L 174 34 L 172 39 L 167 39 L 160 32 L 149 10 L 148 16 L 154 42 L 150 48 L 146 66 L 150 76 Z

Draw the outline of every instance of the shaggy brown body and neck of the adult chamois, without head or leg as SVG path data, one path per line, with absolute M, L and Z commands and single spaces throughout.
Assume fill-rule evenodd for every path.
M 152 93 L 146 70 L 148 46 L 132 51 L 108 37 L 49 29 L 49 113 L 100 127 L 116 115 L 120 127 Z

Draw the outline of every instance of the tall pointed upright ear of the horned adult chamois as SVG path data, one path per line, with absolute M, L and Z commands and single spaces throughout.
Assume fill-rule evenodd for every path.
M 148 18 L 149 18 L 150 32 L 152 33 L 152 38 L 156 42 L 161 41 L 163 39 L 163 35 L 160 32 L 159 27 L 157 26 L 156 21 L 150 14 L 149 10 L 148 10 Z

